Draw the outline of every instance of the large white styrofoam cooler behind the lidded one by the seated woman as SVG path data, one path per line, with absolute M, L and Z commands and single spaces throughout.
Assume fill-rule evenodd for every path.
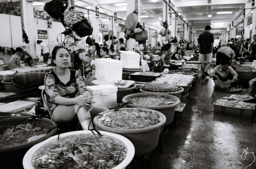
M 95 59 L 95 78 L 101 81 L 114 82 L 122 80 L 123 61 L 104 58 Z

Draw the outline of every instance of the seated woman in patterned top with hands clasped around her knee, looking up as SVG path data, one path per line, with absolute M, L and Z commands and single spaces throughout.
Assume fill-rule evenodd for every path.
M 108 109 L 92 108 L 92 103 L 95 103 L 93 97 L 78 71 L 69 69 L 71 57 L 65 47 L 55 46 L 52 59 L 56 67 L 45 76 L 49 113 L 58 123 L 71 123 L 78 117 L 83 130 L 92 129 L 93 126 L 89 124 L 93 113 L 95 115 Z

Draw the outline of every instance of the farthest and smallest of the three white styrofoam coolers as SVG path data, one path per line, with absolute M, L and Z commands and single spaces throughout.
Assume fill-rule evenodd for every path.
M 124 68 L 138 68 L 140 67 L 140 54 L 132 51 L 119 51 L 120 60 L 123 61 Z

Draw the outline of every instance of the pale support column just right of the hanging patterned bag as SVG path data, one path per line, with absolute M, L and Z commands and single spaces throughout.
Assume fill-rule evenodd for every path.
M 97 6 L 98 7 L 98 6 Z M 93 10 L 95 10 L 96 9 L 96 5 L 93 5 L 92 6 L 92 9 Z M 91 17 L 89 17 L 90 18 L 90 22 L 91 22 L 91 24 L 92 24 L 92 27 L 93 27 L 93 36 L 94 36 L 94 38 L 95 38 L 95 42 L 96 43 L 99 43 L 99 18 L 97 18 L 96 17 L 96 12 L 92 12 L 92 11 L 90 11 L 89 13 L 88 13 L 88 16 L 89 15 L 92 15 Z M 89 19 L 88 18 L 88 19 Z

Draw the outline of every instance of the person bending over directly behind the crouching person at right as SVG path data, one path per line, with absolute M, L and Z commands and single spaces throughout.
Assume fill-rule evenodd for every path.
M 231 42 L 232 43 L 232 42 Z M 229 61 L 228 65 L 231 65 L 232 60 L 235 56 L 234 51 L 228 46 L 228 44 L 231 44 L 230 42 L 227 43 L 227 46 L 222 46 L 217 54 L 216 54 L 216 66 L 221 64 L 221 61 L 226 59 Z

